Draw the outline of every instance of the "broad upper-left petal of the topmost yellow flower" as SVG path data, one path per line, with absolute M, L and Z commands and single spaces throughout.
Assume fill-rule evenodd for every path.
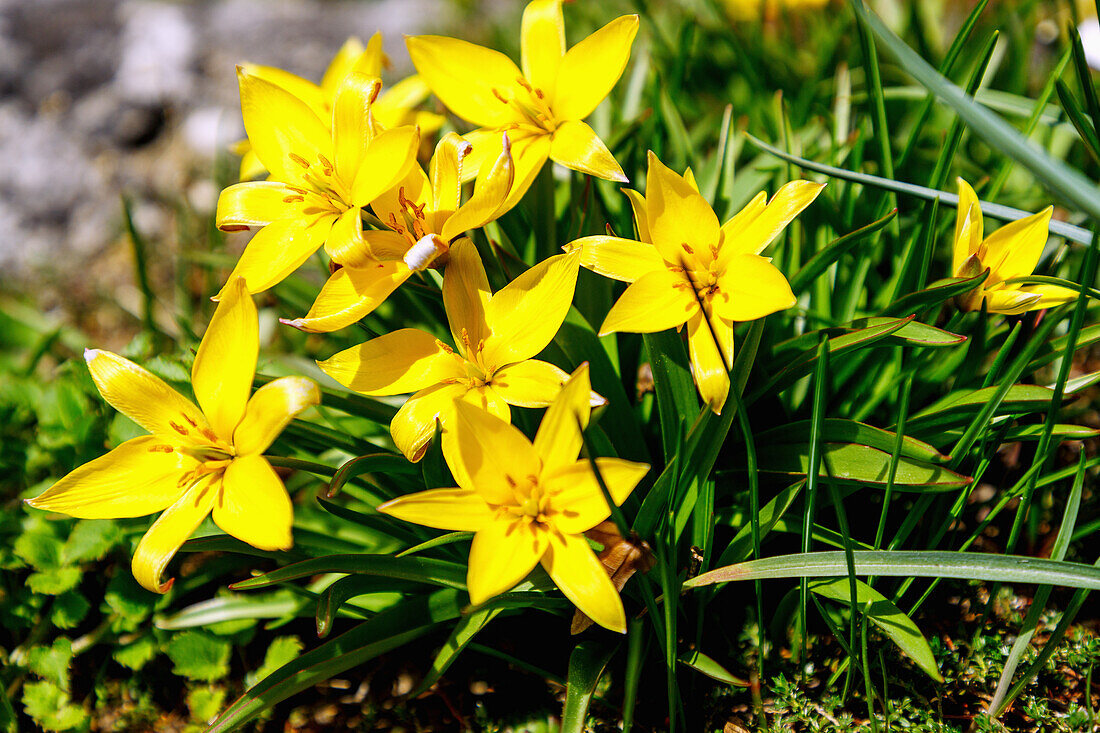
M 507 99 L 516 86 L 520 73 L 510 58 L 440 35 L 409 36 L 405 44 L 420 78 L 463 120 L 484 128 L 517 120 L 518 112 L 493 94 L 496 89 Z

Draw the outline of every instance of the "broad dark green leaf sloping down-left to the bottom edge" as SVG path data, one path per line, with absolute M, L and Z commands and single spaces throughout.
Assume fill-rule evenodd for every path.
M 437 624 L 461 614 L 459 591 L 446 589 L 410 598 L 275 670 L 241 696 L 207 733 L 223 733 L 249 722 L 277 702 L 321 680 L 407 644 Z

